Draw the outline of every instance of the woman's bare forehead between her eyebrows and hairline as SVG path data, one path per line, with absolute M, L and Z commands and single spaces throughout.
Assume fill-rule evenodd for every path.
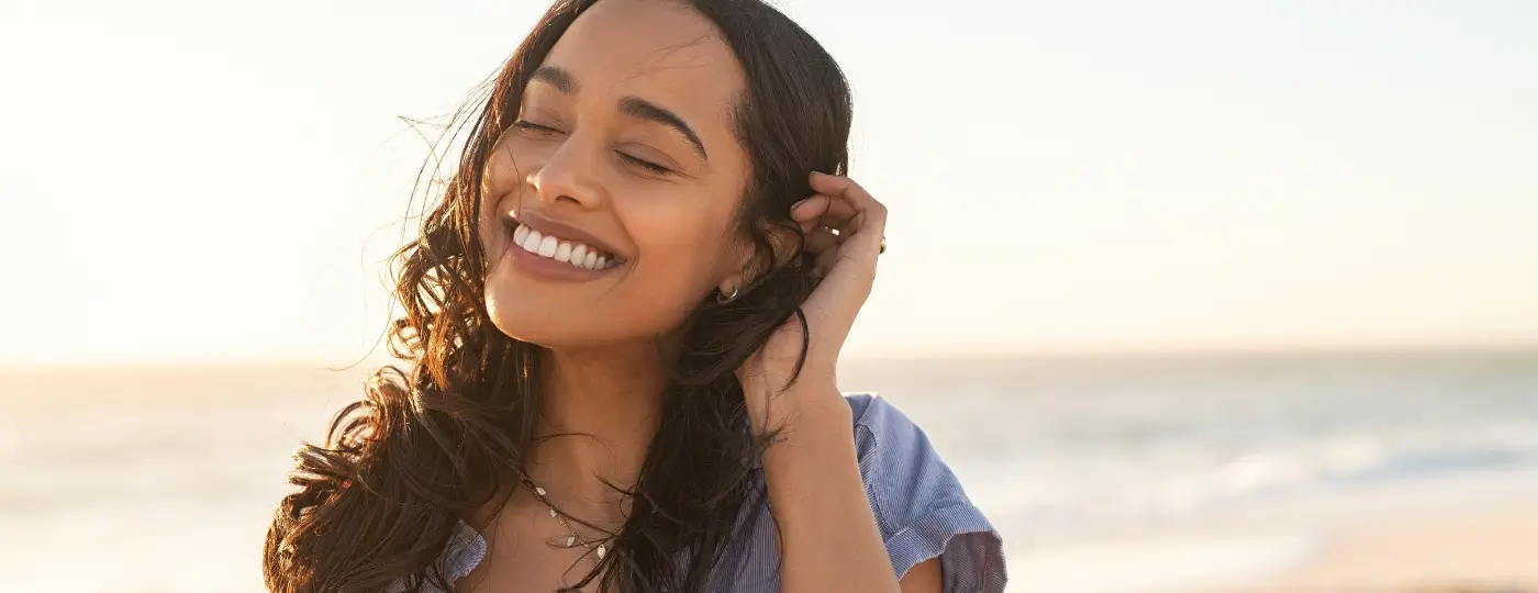
M 543 66 L 572 74 L 583 103 L 640 97 L 691 124 L 726 124 L 743 75 L 714 23 L 684 3 L 601 0 L 561 35 Z

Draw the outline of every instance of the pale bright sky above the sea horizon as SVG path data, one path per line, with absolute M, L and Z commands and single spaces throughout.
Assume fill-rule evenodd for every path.
M 1538 5 L 778 2 L 891 209 L 851 356 L 1538 344 Z M 541 2 L 0 3 L 0 364 L 365 355 Z

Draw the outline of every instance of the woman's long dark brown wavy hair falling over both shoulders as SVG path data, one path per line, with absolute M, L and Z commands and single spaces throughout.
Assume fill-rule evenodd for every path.
M 468 129 L 457 171 L 418 238 L 391 258 L 401 315 L 388 344 L 409 370 L 378 369 L 365 398 L 332 419 L 326 442 L 295 452 L 289 481 L 297 489 L 280 502 L 263 550 L 269 590 L 361 593 L 395 582 L 452 590 L 437 559 L 458 521 L 504 501 L 509 484 L 526 478 L 538 441 L 543 350 L 501 333 L 488 316 L 481 175 L 529 75 L 595 2 L 551 6 L 491 81 L 489 97 L 471 100 L 455 118 Z M 771 235 L 781 229 L 789 235 L 780 237 L 804 240 L 791 206 L 812 194 L 812 171 L 846 172 L 852 117 L 838 65 L 777 9 L 758 0 L 658 2 L 712 20 L 746 75 L 734 118 L 752 171 L 737 224 L 769 264 L 737 300 L 707 296 L 694 307 L 681 349 L 667 356 L 663 421 L 638 481 L 624 490 L 631 513 L 612 552 L 578 584 L 598 579 L 603 590 L 624 593 L 701 591 L 738 516 L 763 510 L 751 476 L 771 439 L 749 430 L 734 370 L 792 318 L 801 320 L 804 343 L 800 304 L 815 286 L 812 258 L 775 261 Z

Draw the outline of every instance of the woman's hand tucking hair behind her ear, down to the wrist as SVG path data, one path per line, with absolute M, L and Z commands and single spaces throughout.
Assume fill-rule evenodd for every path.
M 815 273 L 821 275 L 821 283 L 801 306 L 809 336 L 806 364 L 795 386 L 807 389 L 798 389 L 804 396 L 795 399 L 803 401 L 778 403 L 801 356 L 801 323 L 791 318 L 737 369 L 755 429 L 778 426 L 807 404 L 838 396 L 838 352 L 875 283 L 886 206 L 847 177 L 812 174 L 811 186 L 817 194 L 791 209 L 806 234 L 804 249 L 817 255 Z M 818 401 L 804 401 L 809 398 Z

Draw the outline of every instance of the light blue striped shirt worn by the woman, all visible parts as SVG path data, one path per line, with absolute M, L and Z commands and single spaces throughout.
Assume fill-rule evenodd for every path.
M 866 499 L 875 513 L 892 571 L 901 578 L 918 562 L 940 558 L 946 593 L 1001 593 L 1004 555 L 998 532 L 972 505 L 955 475 L 929 446 L 929 438 L 897 407 L 875 395 L 844 398 L 854 409 L 855 450 Z M 763 493 L 763 472 L 751 492 Z M 749 499 L 744 509 L 760 501 Z M 757 513 L 743 536 L 731 542 L 711 575 L 712 593 L 780 590 L 780 555 L 774 516 Z M 486 558 L 486 539 L 460 522 L 438 562 L 454 582 Z M 432 591 L 431 585 L 424 588 Z M 398 588 L 397 588 L 398 590 Z

